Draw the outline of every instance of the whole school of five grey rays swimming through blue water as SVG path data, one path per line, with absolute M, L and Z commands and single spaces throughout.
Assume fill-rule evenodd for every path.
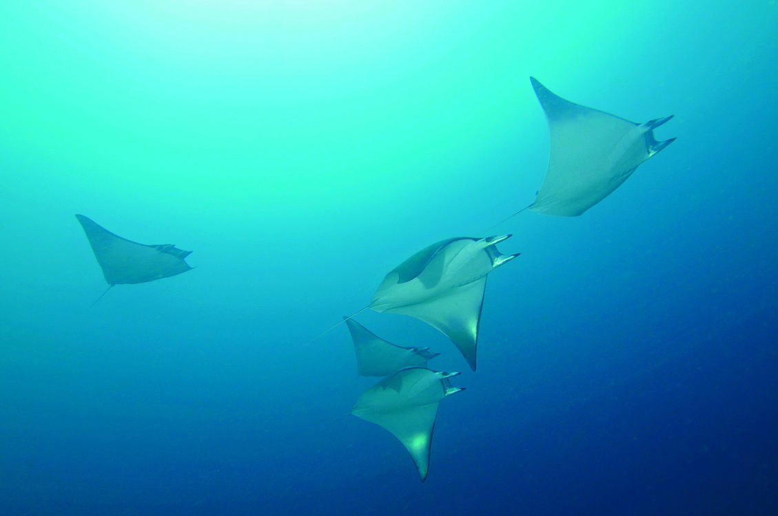
M 511 217 L 527 209 L 562 217 L 583 214 L 624 183 L 640 163 L 675 140 L 654 139 L 654 129 L 672 116 L 635 124 L 569 102 L 535 78 L 530 80 L 548 120 L 551 150 L 537 197 Z M 191 269 L 185 261 L 191 251 L 171 244 L 131 242 L 83 215 L 75 217 L 86 232 L 108 289 Z M 475 371 L 486 277 L 518 256 L 497 250 L 497 244 L 510 236 L 455 237 L 433 243 L 391 270 L 364 309 L 405 314 L 433 326 L 454 343 Z M 427 368 L 427 361 L 437 353 L 380 339 L 352 319 L 357 314 L 343 318 L 354 341 L 357 371 L 383 379 L 359 396 L 351 413 L 398 438 L 424 482 L 438 406 L 463 390 L 450 384 L 450 378 L 459 373 Z

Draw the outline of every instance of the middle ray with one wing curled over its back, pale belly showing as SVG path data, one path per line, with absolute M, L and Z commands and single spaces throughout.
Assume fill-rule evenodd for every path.
M 368 306 L 412 316 L 440 330 L 475 371 L 486 274 L 519 256 L 496 248 L 510 236 L 434 243 L 387 274 Z

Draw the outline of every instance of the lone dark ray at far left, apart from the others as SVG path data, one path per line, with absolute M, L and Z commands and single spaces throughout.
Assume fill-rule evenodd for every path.
M 146 246 L 131 242 L 114 235 L 90 218 L 79 214 L 75 218 L 79 219 L 84 228 L 97 263 L 103 269 L 103 277 L 110 285 L 106 292 L 117 284 L 145 283 L 175 276 L 192 268 L 184 261 L 191 251 L 177 249 L 173 244 Z

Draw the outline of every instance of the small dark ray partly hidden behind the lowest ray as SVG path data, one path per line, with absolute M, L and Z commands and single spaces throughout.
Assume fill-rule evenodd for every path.
M 427 367 L 427 361 L 438 356 L 429 347 L 401 347 L 373 335 L 369 329 L 348 317 L 343 318 L 349 326 L 356 351 L 357 374 L 362 376 L 387 376 L 408 367 Z

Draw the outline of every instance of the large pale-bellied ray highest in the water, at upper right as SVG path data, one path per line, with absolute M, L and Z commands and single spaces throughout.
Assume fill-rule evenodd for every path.
M 564 217 L 583 214 L 624 183 L 640 163 L 675 141 L 654 139 L 654 129 L 672 115 L 635 124 L 569 102 L 536 78 L 530 80 L 551 133 L 548 170 L 538 197 L 528 206 L 531 211 Z

